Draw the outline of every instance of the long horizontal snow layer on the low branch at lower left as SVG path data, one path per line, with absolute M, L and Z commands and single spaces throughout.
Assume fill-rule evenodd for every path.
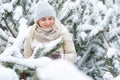
M 24 67 L 36 69 L 37 67 L 44 67 L 46 64 L 48 65 L 51 62 L 51 59 L 47 57 L 37 59 L 22 59 L 12 56 L 4 57 L 0 55 L 0 62 L 10 62 L 14 64 L 19 64 Z

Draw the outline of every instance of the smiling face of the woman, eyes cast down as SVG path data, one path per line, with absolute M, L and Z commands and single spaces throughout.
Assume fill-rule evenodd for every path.
M 43 17 L 37 23 L 42 28 L 51 28 L 54 25 L 55 19 L 52 16 Z

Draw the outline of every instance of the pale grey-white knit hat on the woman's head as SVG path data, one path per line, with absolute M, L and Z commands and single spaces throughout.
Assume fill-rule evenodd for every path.
M 38 21 L 42 17 L 52 16 L 56 18 L 54 8 L 46 1 L 40 1 L 36 5 L 34 21 Z

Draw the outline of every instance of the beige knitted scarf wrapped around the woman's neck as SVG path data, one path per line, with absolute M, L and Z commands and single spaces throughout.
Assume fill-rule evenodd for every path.
M 41 28 L 39 25 L 36 25 L 34 32 L 34 38 L 40 42 L 49 42 L 59 38 L 62 34 L 62 27 L 55 24 L 52 28 Z

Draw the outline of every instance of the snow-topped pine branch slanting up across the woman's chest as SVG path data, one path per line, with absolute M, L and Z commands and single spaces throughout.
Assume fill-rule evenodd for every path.
M 63 46 L 63 44 L 64 44 L 64 41 L 61 38 L 51 41 L 49 44 L 46 44 L 44 46 L 41 46 L 42 45 L 42 43 L 41 43 L 41 45 L 38 45 L 36 47 L 31 58 L 39 58 L 42 56 L 49 56 L 52 54 L 52 52 L 54 52 L 55 50 L 57 50 L 58 48 Z

